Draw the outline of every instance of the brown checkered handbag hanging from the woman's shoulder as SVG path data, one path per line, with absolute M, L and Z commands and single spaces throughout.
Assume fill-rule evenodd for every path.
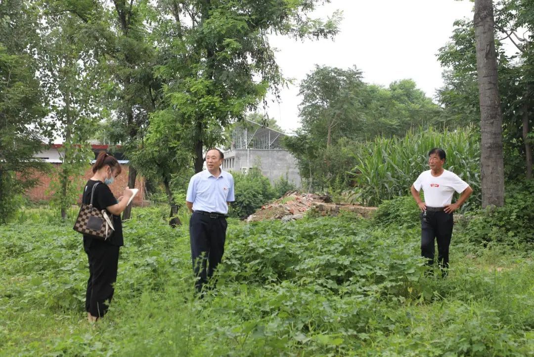
M 82 207 L 78 218 L 74 224 L 73 229 L 76 232 L 82 234 L 91 235 L 93 238 L 99 240 L 107 240 L 114 231 L 113 223 L 109 218 L 106 210 L 99 211 L 93 207 L 93 195 L 95 194 L 95 188 L 99 183 L 93 185 L 91 190 L 91 201 L 89 204 L 85 203 L 85 192 L 82 197 Z

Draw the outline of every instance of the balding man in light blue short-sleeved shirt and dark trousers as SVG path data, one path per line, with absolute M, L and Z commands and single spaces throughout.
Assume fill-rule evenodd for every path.
M 219 149 L 209 149 L 205 160 L 207 170 L 191 178 L 185 199 L 187 208 L 193 212 L 189 236 L 193 272 L 198 277 L 195 287 L 199 292 L 221 263 L 228 205 L 234 201 L 233 177 L 221 169 L 224 154 Z

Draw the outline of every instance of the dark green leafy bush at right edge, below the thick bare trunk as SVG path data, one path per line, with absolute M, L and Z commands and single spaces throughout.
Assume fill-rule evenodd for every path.
M 488 207 L 468 218 L 462 231 L 475 244 L 534 243 L 534 181 L 507 187 L 504 207 Z

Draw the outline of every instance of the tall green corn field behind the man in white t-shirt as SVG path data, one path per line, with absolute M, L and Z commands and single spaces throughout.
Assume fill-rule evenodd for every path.
M 478 133 L 472 128 L 411 130 L 403 138 L 379 137 L 367 142 L 360 147 L 357 165 L 352 170 L 360 201 L 378 205 L 383 200 L 410 194 L 415 179 L 429 169 L 427 154 L 434 147 L 445 150 L 443 168 L 456 173 L 473 188 L 473 195 L 462 211 L 480 206 L 480 144 Z

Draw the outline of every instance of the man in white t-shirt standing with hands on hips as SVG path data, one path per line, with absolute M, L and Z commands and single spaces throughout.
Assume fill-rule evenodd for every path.
M 428 152 L 430 170 L 422 172 L 413 183 L 410 191 L 415 202 L 421 209 L 421 256 L 434 264 L 434 240 L 437 239 L 437 259 L 446 275 L 449 267 L 449 245 L 452 237 L 452 212 L 461 207 L 473 193 L 473 189 L 451 171 L 443 169 L 445 151 L 433 148 Z M 423 189 L 425 201 L 421 201 L 419 191 Z M 452 202 L 454 192 L 460 194 L 455 203 Z

